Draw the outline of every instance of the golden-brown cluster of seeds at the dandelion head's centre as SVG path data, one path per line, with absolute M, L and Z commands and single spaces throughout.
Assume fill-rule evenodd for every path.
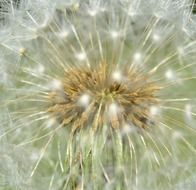
M 88 67 L 72 67 L 62 79 L 60 92 L 49 96 L 53 105 L 48 109 L 63 125 L 113 128 L 124 124 L 145 128 L 150 121 L 150 107 L 157 104 L 157 85 L 147 74 L 128 65 L 121 71 L 115 64 L 101 62 Z

